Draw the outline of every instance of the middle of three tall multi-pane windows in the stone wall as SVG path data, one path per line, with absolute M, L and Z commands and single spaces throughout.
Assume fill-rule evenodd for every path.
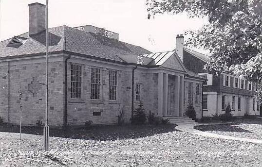
M 100 99 L 100 68 L 91 68 L 91 99 Z

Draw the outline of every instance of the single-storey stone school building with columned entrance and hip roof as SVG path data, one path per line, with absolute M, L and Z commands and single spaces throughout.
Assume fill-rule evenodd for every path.
M 29 4 L 29 32 L 0 42 L 0 117 L 36 125 L 45 119 L 45 5 Z M 143 103 L 146 113 L 183 117 L 192 103 L 202 117 L 204 77 L 183 65 L 184 37 L 173 51 L 152 53 L 91 25 L 49 29 L 49 125 L 129 122 Z

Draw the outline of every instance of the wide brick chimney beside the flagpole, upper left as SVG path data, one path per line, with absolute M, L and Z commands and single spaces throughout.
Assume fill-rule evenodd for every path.
M 29 6 L 29 35 L 45 31 L 45 5 L 31 3 Z

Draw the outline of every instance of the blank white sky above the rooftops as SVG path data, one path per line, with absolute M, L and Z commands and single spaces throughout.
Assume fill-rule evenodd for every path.
M 0 41 L 28 32 L 28 4 L 34 2 L 46 0 L 0 0 Z M 152 52 L 173 50 L 177 34 L 207 23 L 186 14 L 147 16 L 146 0 L 49 0 L 49 27 L 91 24 Z

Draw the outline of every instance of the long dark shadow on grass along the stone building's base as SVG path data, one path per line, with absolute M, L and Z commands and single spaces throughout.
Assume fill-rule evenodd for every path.
M 108 126 L 91 126 L 89 128 L 77 129 L 56 129 L 50 128 L 50 136 L 65 137 L 73 139 L 86 139 L 86 140 L 120 140 L 152 136 L 154 134 L 163 134 L 173 131 L 176 125 L 108 125 Z M 0 127 L 0 132 L 20 133 L 19 126 L 4 126 Z M 37 134 L 43 135 L 42 128 L 36 127 L 22 127 L 23 134 Z

